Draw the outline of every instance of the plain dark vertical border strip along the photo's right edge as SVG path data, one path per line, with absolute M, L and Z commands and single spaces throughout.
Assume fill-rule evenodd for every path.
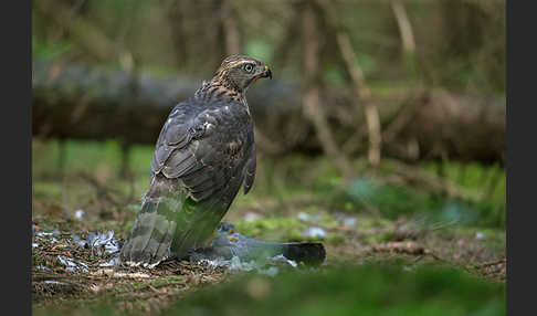
M 517 4 L 516 9 L 514 4 Z M 535 10 L 531 1 L 506 0 L 507 19 L 507 315 L 535 312 Z M 526 4 L 524 8 L 520 4 Z M 531 6 L 534 7 L 534 6 Z M 527 112 L 527 113 L 524 113 Z M 518 152 L 515 152 L 518 150 Z M 526 177 L 524 177 L 526 176 Z

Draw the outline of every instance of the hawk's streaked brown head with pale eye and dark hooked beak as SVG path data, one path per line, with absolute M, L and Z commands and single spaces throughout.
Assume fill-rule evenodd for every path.
M 251 56 L 231 55 L 222 61 L 212 81 L 243 93 L 262 77 L 272 78 L 272 72 L 265 63 Z

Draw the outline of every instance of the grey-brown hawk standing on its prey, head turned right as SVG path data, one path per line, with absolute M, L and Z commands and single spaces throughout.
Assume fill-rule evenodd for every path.
M 212 235 L 243 186 L 255 178 L 246 89 L 272 78 L 260 60 L 231 55 L 194 95 L 177 104 L 160 130 L 143 197 L 120 261 L 152 267 L 183 257 Z

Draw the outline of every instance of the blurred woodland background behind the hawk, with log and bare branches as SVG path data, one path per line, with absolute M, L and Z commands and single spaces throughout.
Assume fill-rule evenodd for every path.
M 273 80 L 225 221 L 327 263 L 505 257 L 505 30 L 504 0 L 33 1 L 33 220 L 125 238 L 167 115 L 241 53 Z

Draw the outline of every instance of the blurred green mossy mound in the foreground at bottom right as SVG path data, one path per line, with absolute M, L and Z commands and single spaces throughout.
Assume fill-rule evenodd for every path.
M 207 288 L 164 315 L 505 315 L 505 285 L 401 265 L 250 276 Z

